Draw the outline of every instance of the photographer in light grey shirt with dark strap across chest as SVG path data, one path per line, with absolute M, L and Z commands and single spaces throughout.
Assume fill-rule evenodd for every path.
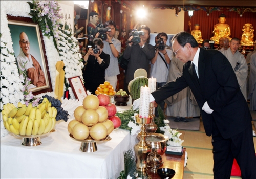
M 161 32 L 157 34 L 156 38 L 156 53 L 154 58 L 150 61 L 151 71 L 150 77 L 157 79 L 156 89 L 162 87 L 166 84 L 168 74 L 169 74 L 169 64 L 170 60 L 173 58 L 172 50 L 165 48 L 168 36 L 166 33 Z M 161 73 L 159 73 L 161 72 Z M 162 109 L 164 109 L 164 101 L 159 104 Z M 155 115 L 157 115 L 157 109 L 155 110 Z

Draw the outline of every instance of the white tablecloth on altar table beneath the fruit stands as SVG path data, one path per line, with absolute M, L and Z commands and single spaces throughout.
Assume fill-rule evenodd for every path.
M 12 134 L 2 138 L 1 178 L 117 178 L 124 169 L 123 152 L 133 148 L 135 136 L 116 129 L 111 141 L 97 143 L 96 152 L 81 152 L 81 142 L 69 137 L 68 122 L 58 122 L 57 131 L 35 147 L 20 145 L 22 138 Z

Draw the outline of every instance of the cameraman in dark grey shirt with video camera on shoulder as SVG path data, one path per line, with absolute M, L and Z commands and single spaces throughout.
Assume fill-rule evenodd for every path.
M 146 25 L 142 25 L 139 31 L 143 31 L 144 35 L 136 36 L 136 41 L 139 38 L 138 43 L 133 42 L 134 36 L 132 35 L 128 39 L 128 46 L 123 52 L 123 58 L 129 59 L 128 68 L 125 71 L 124 89 L 127 92 L 128 84 L 134 79 L 134 72 L 137 69 L 145 69 L 147 74 L 150 74 L 149 62 L 155 56 L 154 46 L 149 44 L 150 28 Z M 135 32 L 136 33 L 136 32 Z

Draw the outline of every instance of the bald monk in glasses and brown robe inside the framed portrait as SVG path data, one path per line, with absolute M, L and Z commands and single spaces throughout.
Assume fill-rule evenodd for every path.
M 18 68 L 22 71 L 26 69 L 27 78 L 31 79 L 31 84 L 36 87 L 45 86 L 45 74 L 38 61 L 30 54 L 30 42 L 25 32 L 19 34 L 19 47 Z

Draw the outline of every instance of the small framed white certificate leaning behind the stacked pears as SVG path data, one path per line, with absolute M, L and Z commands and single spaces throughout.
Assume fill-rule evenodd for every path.
M 87 93 L 86 88 L 82 84 L 80 76 L 68 78 L 68 80 L 76 99 L 83 101 L 83 99 L 87 96 Z

